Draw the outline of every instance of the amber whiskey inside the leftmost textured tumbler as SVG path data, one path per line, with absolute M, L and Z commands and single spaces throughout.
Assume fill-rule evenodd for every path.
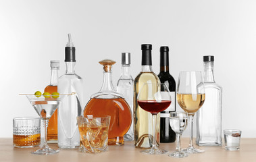
M 36 146 L 41 142 L 40 134 L 32 135 L 15 135 L 14 134 L 14 145 L 15 146 Z

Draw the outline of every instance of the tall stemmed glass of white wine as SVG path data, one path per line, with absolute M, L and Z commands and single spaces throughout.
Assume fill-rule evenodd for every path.
M 178 78 L 177 101 L 180 107 L 188 113 L 188 128 L 190 144 L 183 149 L 184 153 L 203 153 L 193 146 L 193 119 L 195 113 L 205 101 L 205 86 L 201 72 L 180 72 Z

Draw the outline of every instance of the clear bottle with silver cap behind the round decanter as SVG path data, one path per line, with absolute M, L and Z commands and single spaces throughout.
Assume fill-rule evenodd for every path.
M 133 79 L 130 74 L 130 53 L 122 53 L 121 77 L 118 80 L 117 91 L 123 94 L 124 99 L 130 106 L 133 118 Z M 124 140 L 134 140 L 133 119 L 130 129 L 124 135 Z

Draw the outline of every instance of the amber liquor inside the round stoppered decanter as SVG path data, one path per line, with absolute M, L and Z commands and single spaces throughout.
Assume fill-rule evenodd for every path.
M 124 144 L 124 134 L 129 130 L 132 122 L 130 108 L 124 99 L 91 99 L 84 110 L 84 117 L 87 115 L 93 115 L 93 117 L 111 116 L 108 144 Z

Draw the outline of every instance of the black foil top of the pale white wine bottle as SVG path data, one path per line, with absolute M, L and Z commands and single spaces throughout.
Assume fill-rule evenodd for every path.
M 143 58 L 141 60 L 141 65 L 152 65 L 152 59 L 151 59 L 152 45 L 149 45 L 149 44 L 141 45 L 141 50 L 143 51 Z

